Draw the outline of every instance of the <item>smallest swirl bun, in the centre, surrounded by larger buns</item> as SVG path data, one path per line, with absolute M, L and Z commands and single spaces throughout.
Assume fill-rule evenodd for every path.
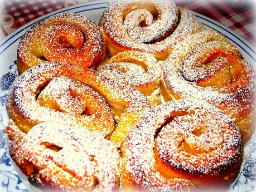
M 136 88 L 156 106 L 160 100 L 161 68 L 161 63 L 149 53 L 124 51 L 111 57 L 97 71 L 122 85 Z M 158 95 L 154 91 L 158 91 Z

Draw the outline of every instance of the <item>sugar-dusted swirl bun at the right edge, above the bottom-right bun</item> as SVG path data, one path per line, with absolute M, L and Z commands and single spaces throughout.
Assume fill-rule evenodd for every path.
M 246 142 L 253 134 L 252 66 L 218 32 L 201 31 L 185 42 L 163 66 L 163 97 L 166 101 L 195 97 L 210 102 L 234 120 Z

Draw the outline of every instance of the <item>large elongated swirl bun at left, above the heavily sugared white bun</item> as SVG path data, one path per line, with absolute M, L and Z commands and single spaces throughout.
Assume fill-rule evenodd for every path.
M 6 106 L 9 117 L 25 133 L 41 122 L 53 121 L 105 137 L 114 131 L 117 145 L 149 109 L 142 93 L 67 63 L 37 65 L 22 73 Z M 119 116 L 117 125 L 114 115 Z

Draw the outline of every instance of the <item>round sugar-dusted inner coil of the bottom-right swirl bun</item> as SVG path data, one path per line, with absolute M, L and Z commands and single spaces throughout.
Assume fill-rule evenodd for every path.
M 231 119 L 227 120 L 224 114 L 212 111 L 206 114 L 202 109 L 175 117 L 158 134 L 157 151 L 161 159 L 173 168 L 199 177 L 220 176 L 241 159 L 240 133 Z

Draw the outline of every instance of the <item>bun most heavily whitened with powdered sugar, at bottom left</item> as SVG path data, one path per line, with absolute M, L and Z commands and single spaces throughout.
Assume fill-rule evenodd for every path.
M 26 135 L 11 122 L 7 134 L 13 160 L 44 190 L 114 191 L 119 187 L 117 148 L 95 133 L 45 122 Z

